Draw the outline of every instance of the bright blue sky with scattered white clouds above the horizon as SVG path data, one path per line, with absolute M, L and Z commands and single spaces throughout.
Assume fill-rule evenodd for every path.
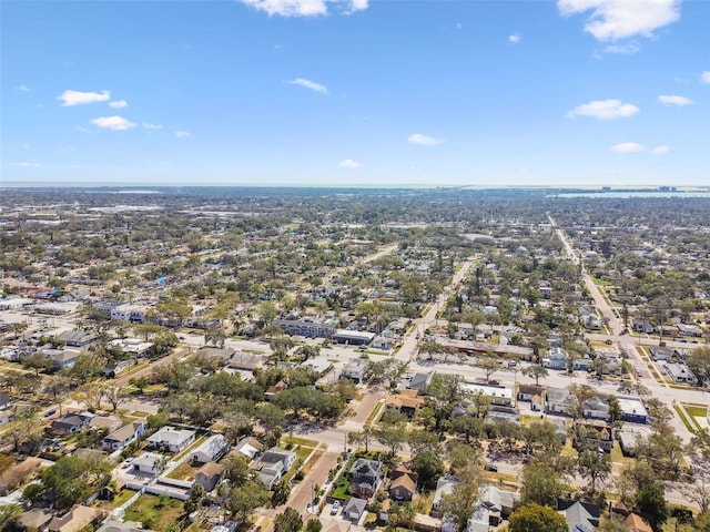
M 710 185 L 702 0 L 3 1 L 0 183 Z

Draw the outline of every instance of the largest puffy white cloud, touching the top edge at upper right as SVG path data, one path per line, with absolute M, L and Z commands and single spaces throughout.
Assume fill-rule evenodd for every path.
M 564 17 L 591 10 L 585 31 L 616 41 L 653 31 L 680 19 L 680 0 L 557 0 Z

